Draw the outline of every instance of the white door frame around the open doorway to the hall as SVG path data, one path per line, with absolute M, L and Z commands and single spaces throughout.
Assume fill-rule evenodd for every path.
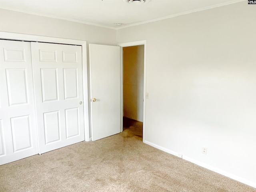
M 123 131 L 123 115 L 124 115 L 124 104 L 123 104 L 123 47 L 130 47 L 130 46 L 137 46 L 137 45 L 144 45 L 144 77 L 143 77 L 143 137 L 142 140 L 145 142 L 145 124 L 146 124 L 146 52 L 147 52 L 147 41 L 141 40 L 141 41 L 134 41 L 134 42 L 126 42 L 126 43 L 118 43 L 118 46 L 120 46 L 120 114 L 121 115 L 121 126 L 120 126 L 120 132 Z

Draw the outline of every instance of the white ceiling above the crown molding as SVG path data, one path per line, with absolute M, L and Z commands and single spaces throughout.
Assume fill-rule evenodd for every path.
M 241 1 L 145 0 L 130 4 L 124 0 L 0 0 L 0 8 L 119 29 Z

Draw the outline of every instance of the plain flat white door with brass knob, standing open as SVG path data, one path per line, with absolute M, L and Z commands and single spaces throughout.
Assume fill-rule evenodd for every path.
M 92 140 L 120 132 L 120 47 L 89 44 Z

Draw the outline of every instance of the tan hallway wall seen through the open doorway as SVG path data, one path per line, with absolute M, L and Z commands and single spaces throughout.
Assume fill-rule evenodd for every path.
M 144 45 L 123 48 L 124 117 L 143 122 Z

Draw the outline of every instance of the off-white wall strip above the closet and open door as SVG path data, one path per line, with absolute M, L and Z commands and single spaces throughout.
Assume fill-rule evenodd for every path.
M 116 45 L 116 30 L 0 9 L 0 31 Z

